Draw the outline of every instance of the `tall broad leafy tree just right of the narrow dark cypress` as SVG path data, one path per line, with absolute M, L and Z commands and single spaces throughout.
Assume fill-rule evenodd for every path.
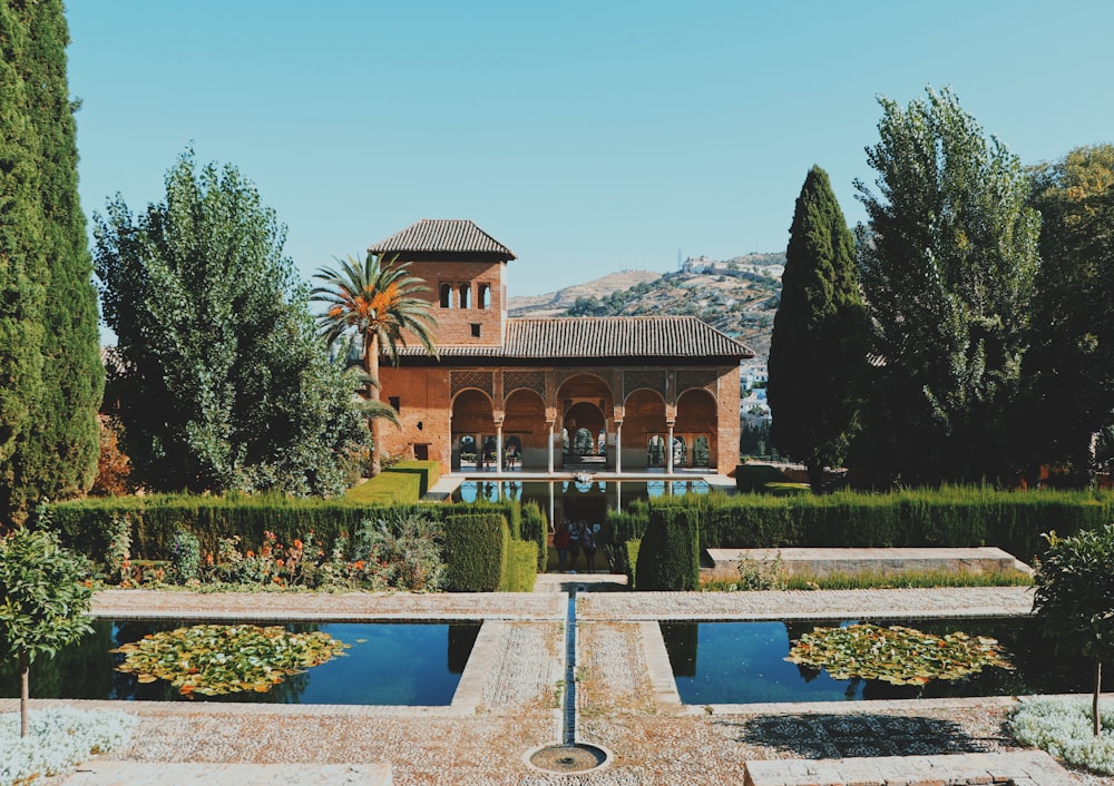
M 880 358 L 857 451 L 906 483 L 1013 478 L 1015 411 L 1039 216 L 1016 156 L 950 90 L 907 108 L 880 98 L 867 148 L 878 195 L 856 183 L 860 281 Z M 858 466 L 858 464 L 857 464 Z

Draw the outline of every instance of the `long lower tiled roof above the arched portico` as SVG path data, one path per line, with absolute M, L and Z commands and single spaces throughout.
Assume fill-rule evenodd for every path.
M 695 316 L 598 316 L 507 320 L 502 346 L 441 346 L 442 357 L 502 358 L 721 358 L 754 352 Z M 400 351 L 420 356 L 420 346 Z

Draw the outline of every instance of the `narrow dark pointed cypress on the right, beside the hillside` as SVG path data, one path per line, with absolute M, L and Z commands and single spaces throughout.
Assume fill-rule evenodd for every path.
M 802 461 L 812 490 L 847 458 L 858 429 L 867 322 L 854 238 L 828 173 L 812 167 L 797 199 L 781 305 L 770 341 L 770 435 Z

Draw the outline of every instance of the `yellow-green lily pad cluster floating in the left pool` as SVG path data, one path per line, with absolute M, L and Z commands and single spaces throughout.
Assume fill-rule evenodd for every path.
M 287 675 L 324 664 L 348 647 L 320 631 L 195 625 L 149 633 L 111 651 L 125 655 L 116 670 L 135 674 L 140 682 L 165 679 L 184 696 L 217 696 L 244 690 L 265 694 Z

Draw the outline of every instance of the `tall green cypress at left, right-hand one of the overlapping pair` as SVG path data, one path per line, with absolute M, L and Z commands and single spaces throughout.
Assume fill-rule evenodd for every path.
M 97 294 L 85 215 L 77 190 L 74 105 L 66 76 L 69 32 L 61 0 L 13 2 L 28 31 L 16 61 L 28 91 L 28 117 L 39 138 L 38 199 L 49 281 L 41 312 L 42 387 L 31 400 L 30 429 L 13 470 L 22 504 L 84 493 L 100 450 L 97 411 L 104 392 Z

